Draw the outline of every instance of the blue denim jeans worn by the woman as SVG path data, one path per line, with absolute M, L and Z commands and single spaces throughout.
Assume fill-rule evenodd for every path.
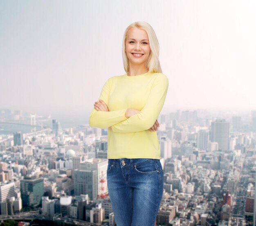
M 107 186 L 117 226 L 154 226 L 164 190 L 159 159 L 108 159 Z

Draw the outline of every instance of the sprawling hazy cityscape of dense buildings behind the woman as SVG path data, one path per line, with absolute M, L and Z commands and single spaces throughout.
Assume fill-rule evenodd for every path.
M 158 121 L 164 192 L 155 226 L 255 225 L 256 110 L 175 110 Z M 115 226 L 107 135 L 0 109 L 1 225 Z

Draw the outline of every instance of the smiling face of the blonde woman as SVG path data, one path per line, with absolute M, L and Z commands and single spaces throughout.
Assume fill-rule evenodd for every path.
M 137 27 L 131 28 L 126 36 L 126 55 L 129 59 L 129 67 L 141 65 L 145 67 L 150 54 L 148 35 L 145 30 Z

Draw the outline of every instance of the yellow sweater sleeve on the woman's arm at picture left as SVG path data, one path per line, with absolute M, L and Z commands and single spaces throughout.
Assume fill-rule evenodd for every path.
M 99 99 L 103 100 L 106 105 L 108 105 L 108 98 L 110 94 L 110 78 L 104 84 Z M 99 99 L 97 101 L 99 101 Z M 116 123 L 126 120 L 126 113 L 127 108 L 104 112 L 104 111 L 97 111 L 93 107 L 92 112 L 90 113 L 89 117 L 89 125 L 90 127 L 97 127 L 101 129 L 108 128 Z

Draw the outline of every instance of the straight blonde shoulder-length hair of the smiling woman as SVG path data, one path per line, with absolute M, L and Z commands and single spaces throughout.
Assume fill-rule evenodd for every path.
M 157 36 L 155 34 L 154 29 L 144 21 L 137 21 L 132 24 L 130 24 L 126 30 L 124 31 L 124 37 L 123 37 L 123 44 L 122 44 L 122 57 L 123 57 L 123 63 L 124 63 L 124 70 L 125 72 L 129 71 L 129 59 L 126 55 L 125 51 L 125 42 L 127 33 L 131 28 L 137 27 L 139 29 L 143 29 L 146 31 L 148 35 L 148 41 L 150 46 L 150 54 L 148 56 L 148 60 L 145 63 L 145 67 L 148 69 L 148 72 L 161 72 L 162 69 L 159 62 L 159 43 L 157 40 Z

